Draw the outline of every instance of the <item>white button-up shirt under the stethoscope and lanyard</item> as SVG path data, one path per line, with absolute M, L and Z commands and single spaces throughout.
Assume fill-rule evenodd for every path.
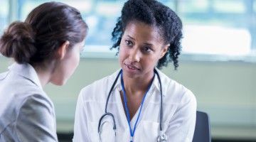
M 99 119 L 105 113 L 107 95 L 118 72 L 119 70 L 81 90 L 75 111 L 73 141 L 99 141 L 97 133 Z M 158 72 L 164 96 L 163 131 L 168 137 L 167 141 L 191 142 L 196 124 L 196 97 L 183 85 L 171 80 L 161 71 L 158 70 Z M 129 124 L 122 105 L 120 90 L 122 87 L 119 77 L 111 94 L 107 111 L 114 115 L 117 124 L 115 141 L 127 142 L 130 140 Z M 153 84 L 144 100 L 137 129 L 134 133 L 134 142 L 155 142 L 159 136 L 160 97 L 159 80 L 155 75 Z M 132 129 L 138 114 L 139 109 L 131 120 Z M 106 120 L 111 122 L 109 116 Z M 108 123 L 102 128 L 102 141 L 112 141 L 112 125 Z

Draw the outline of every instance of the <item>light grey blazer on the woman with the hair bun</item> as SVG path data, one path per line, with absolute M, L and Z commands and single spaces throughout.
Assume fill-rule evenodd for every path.
M 29 64 L 0 74 L 0 142 L 58 141 L 53 102 Z

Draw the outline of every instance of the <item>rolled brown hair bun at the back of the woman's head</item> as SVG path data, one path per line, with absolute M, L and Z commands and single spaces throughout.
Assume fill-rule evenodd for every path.
M 0 53 L 18 63 L 29 62 L 36 53 L 35 34 L 30 24 L 14 22 L 0 38 Z

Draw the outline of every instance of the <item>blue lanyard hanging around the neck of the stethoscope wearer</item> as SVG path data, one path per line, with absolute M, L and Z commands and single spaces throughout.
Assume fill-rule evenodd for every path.
M 129 131 L 130 131 L 130 136 L 131 136 L 131 142 L 133 141 L 133 136 L 134 136 L 134 133 L 135 133 L 135 130 L 136 130 L 137 122 L 139 121 L 139 116 L 140 116 L 140 114 L 142 112 L 142 106 L 144 104 L 144 99 L 146 97 L 147 92 L 149 92 L 149 89 L 150 89 L 150 87 L 152 85 L 153 80 L 154 80 L 154 77 L 151 80 L 151 82 L 149 84 L 149 87 L 148 87 L 148 89 L 146 89 L 146 92 L 145 92 L 145 94 L 143 96 L 143 99 L 142 99 L 142 102 L 141 102 L 141 107 L 139 109 L 139 115 L 138 115 L 138 117 L 136 119 L 136 122 L 135 122 L 135 125 L 134 125 L 134 130 L 132 131 L 131 124 L 130 124 L 129 109 L 127 107 L 126 93 L 125 93 L 125 89 L 124 89 L 124 80 L 123 80 L 122 73 L 121 73 L 121 84 L 122 84 L 122 92 L 123 92 L 123 98 L 124 98 L 124 107 L 125 107 L 125 112 L 127 114 L 127 121 L 128 121 L 128 124 L 129 124 Z

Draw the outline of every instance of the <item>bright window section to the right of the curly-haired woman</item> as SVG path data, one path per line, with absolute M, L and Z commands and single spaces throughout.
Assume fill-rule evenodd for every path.
M 254 54 L 256 25 L 252 1 L 183 0 L 179 6 L 185 23 L 184 53 L 228 57 Z

